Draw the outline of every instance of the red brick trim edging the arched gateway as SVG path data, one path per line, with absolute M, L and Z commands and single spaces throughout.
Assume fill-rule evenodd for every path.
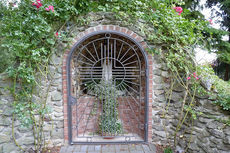
M 95 32 L 100 32 L 100 31 L 114 31 L 114 32 L 119 32 L 119 33 L 123 33 L 124 35 L 134 39 L 136 42 L 139 43 L 140 47 L 142 47 L 142 49 L 146 49 L 147 48 L 147 44 L 144 42 L 143 38 L 138 36 L 136 33 L 134 33 L 133 31 L 128 30 L 127 28 L 122 28 L 119 26 L 113 26 L 113 25 L 100 25 L 100 26 L 96 26 L 96 27 L 92 27 L 90 29 L 85 30 L 82 33 L 79 33 L 78 36 L 74 39 L 73 41 L 73 46 L 78 43 L 79 41 L 81 41 L 82 39 L 84 39 L 85 37 L 95 33 Z M 64 56 L 63 56 L 63 67 L 62 67 L 62 71 L 63 71 L 63 106 L 64 106 L 64 139 L 65 141 L 69 141 L 70 138 L 70 129 L 68 128 L 68 124 L 69 124 L 69 118 L 68 118 L 68 81 L 67 81 L 67 61 L 68 61 L 68 56 L 70 54 L 71 50 L 66 50 Z M 148 87 L 148 113 L 147 113 L 147 120 L 148 120 L 148 131 L 147 131 L 147 140 L 148 142 L 151 142 L 152 139 L 152 91 L 153 91 L 153 87 L 152 87 L 152 79 L 153 79 L 153 75 L 152 75 L 152 56 L 148 55 L 148 81 L 150 82 L 149 87 Z

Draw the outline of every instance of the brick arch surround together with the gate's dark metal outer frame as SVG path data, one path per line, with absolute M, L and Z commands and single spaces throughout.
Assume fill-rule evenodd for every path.
M 143 41 L 144 39 L 138 36 L 133 31 L 127 28 L 122 28 L 113 25 L 100 25 L 97 27 L 89 28 L 86 31 L 79 33 L 78 37 L 74 39 L 72 48 L 67 50 L 63 58 L 63 102 L 64 102 L 64 140 L 68 141 L 69 144 L 111 144 L 111 143 L 121 143 L 121 142 L 73 142 L 72 140 L 72 96 L 71 96 L 71 73 L 70 73 L 70 61 L 76 47 L 87 40 L 88 38 L 102 33 L 117 34 L 126 39 L 131 40 L 140 49 L 144 60 L 145 60 L 145 71 L 146 71 L 146 87 L 145 87 L 145 138 L 143 142 L 123 142 L 123 143 L 148 143 L 152 139 L 152 55 L 147 55 L 145 49 L 148 48 L 147 44 Z M 149 86 L 149 83 L 150 86 Z M 150 103 L 149 103 L 150 101 Z

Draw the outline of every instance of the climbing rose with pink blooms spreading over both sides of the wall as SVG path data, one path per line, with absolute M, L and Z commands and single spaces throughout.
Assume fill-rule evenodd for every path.
M 13 118 L 20 119 L 22 125 L 33 129 L 35 150 L 41 151 L 46 145 L 43 141 L 43 125 L 45 119 L 49 118 L 49 109 L 46 105 L 47 94 L 43 94 L 45 96 L 40 100 L 35 100 L 33 96 L 39 95 L 39 87 L 44 78 L 48 84 L 46 93 L 49 91 L 52 76 L 48 77 L 48 64 L 52 62 L 50 57 L 55 53 L 57 45 L 69 40 L 65 39 L 69 38 L 66 24 L 72 21 L 80 25 L 87 24 L 82 15 L 88 12 L 114 12 L 117 19 L 127 24 L 144 21 L 144 24 L 140 25 L 140 31 L 155 45 L 148 49 L 148 52 L 158 54 L 171 72 L 171 87 L 166 94 L 167 99 L 170 99 L 175 83 L 185 89 L 174 134 L 175 145 L 176 133 L 185 119 L 191 116 L 193 123 L 196 116 L 201 114 L 194 110 L 197 94 L 212 94 L 215 88 L 221 93 L 216 103 L 229 110 L 230 96 L 223 91 L 229 89 L 230 85 L 223 81 L 220 83 L 215 78 L 212 83 L 213 90 L 207 92 L 202 86 L 202 79 L 207 77 L 202 74 L 207 69 L 196 67 L 194 60 L 195 47 L 210 48 L 212 41 L 215 42 L 212 33 L 209 33 L 208 38 L 207 33 L 204 34 L 204 31 L 209 31 L 207 29 L 210 22 L 203 18 L 187 18 L 191 12 L 180 7 L 183 4 L 181 0 L 21 0 L 15 3 L 1 1 L 1 52 L 4 51 L 10 58 L 5 60 L 3 56 L 0 57 L 4 59 L 1 64 L 5 64 L 6 72 L 14 81 L 14 86 L 9 88 L 14 97 Z M 165 113 L 169 105 L 170 103 L 165 107 Z M 15 143 L 17 144 L 16 140 Z

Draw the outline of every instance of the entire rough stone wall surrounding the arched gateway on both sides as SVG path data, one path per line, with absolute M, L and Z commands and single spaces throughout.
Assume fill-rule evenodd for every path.
M 77 36 L 85 29 L 95 27 L 97 25 L 118 25 L 120 27 L 126 27 L 132 30 L 144 40 L 146 36 L 141 31 L 141 28 L 145 23 L 144 21 L 137 21 L 134 24 L 128 24 L 115 19 L 111 13 L 96 13 L 87 15 L 89 24 L 86 26 L 78 26 L 74 23 L 70 23 L 71 35 Z M 149 27 L 151 28 L 151 27 Z M 154 44 L 148 43 L 150 48 L 154 48 Z M 65 45 L 60 45 L 57 49 L 57 53 L 51 58 L 49 65 L 50 73 L 54 80 L 52 81 L 51 88 L 48 94 L 48 106 L 52 109 L 51 121 L 45 123 L 45 133 L 47 135 L 47 143 L 50 146 L 64 145 L 67 142 L 64 141 L 64 106 L 62 95 L 62 60 Z M 72 47 L 72 46 L 70 46 Z M 173 134 L 177 126 L 179 110 L 181 108 L 181 101 L 183 99 L 184 91 L 180 87 L 173 91 L 173 96 L 170 101 L 170 107 L 168 113 L 163 117 L 164 108 L 167 105 L 165 94 L 169 88 L 169 73 L 166 64 L 160 61 L 157 55 L 149 57 L 149 87 L 152 89 L 149 92 L 149 103 L 152 105 L 150 113 L 150 123 L 152 128 L 150 130 L 152 134 L 152 142 L 155 144 L 172 145 Z M 47 80 L 43 81 L 43 89 L 47 88 Z M 12 81 L 8 80 L 5 74 L 0 74 L 0 153 L 8 152 L 20 152 L 15 145 L 12 138 L 12 102 L 13 99 L 10 96 L 6 87 L 11 86 Z M 42 93 L 42 91 L 41 91 Z M 42 94 L 41 94 L 42 95 Z M 36 95 L 39 99 L 39 95 Z M 199 116 L 194 121 L 194 126 L 183 126 L 178 132 L 178 148 L 181 150 L 186 149 L 186 144 L 189 143 L 190 133 L 191 145 L 188 152 L 206 152 L 206 153 L 227 153 L 230 150 L 230 127 L 224 123 L 213 119 L 211 116 L 215 116 L 219 119 L 228 119 L 229 113 L 223 112 L 219 107 L 211 103 L 208 97 L 197 98 L 197 111 L 203 112 L 205 115 Z M 188 121 L 189 122 L 189 121 Z M 66 127 L 67 128 L 67 127 Z M 23 148 L 30 148 L 33 143 L 32 130 L 22 128 L 19 121 L 15 121 L 15 138 L 16 141 L 23 146 Z M 192 131 L 192 132 L 191 132 Z

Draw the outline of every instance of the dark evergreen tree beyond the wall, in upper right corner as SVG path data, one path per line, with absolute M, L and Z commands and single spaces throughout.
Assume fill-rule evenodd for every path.
M 212 8 L 212 17 L 222 19 L 217 21 L 220 23 L 221 29 L 209 27 L 205 29 L 203 35 L 207 40 L 206 44 L 209 51 L 215 52 L 218 55 L 214 64 L 215 72 L 220 78 L 228 81 L 230 77 L 230 1 L 207 0 L 205 6 Z M 215 9 L 213 6 L 217 6 L 219 9 Z M 199 5 L 198 0 L 186 0 L 184 7 L 192 10 L 189 17 L 204 20 L 201 12 L 197 11 L 197 8 L 203 9 Z M 228 36 L 228 41 L 223 40 L 223 36 Z

